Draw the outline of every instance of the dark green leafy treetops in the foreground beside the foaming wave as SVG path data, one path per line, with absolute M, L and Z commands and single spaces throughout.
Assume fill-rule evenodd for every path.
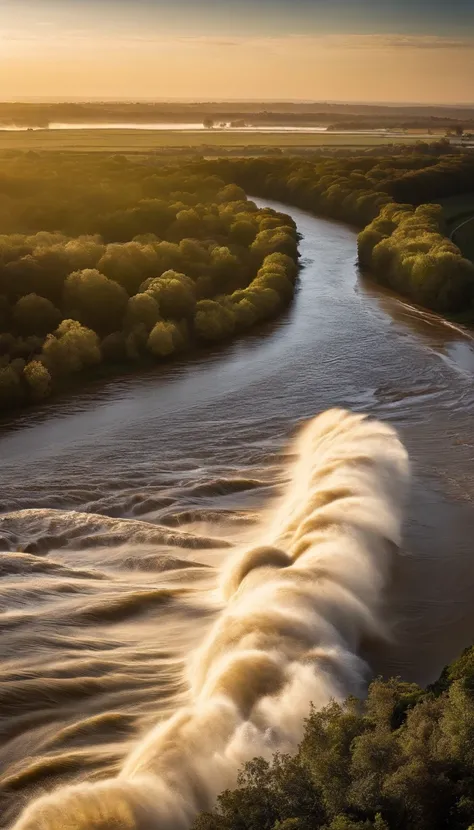
M 474 823 L 474 648 L 424 691 L 372 683 L 312 711 L 294 758 L 255 759 L 194 830 L 467 830 Z

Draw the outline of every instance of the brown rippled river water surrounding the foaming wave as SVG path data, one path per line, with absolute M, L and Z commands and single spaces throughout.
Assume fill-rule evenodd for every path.
M 413 465 L 374 673 L 428 683 L 474 641 L 473 341 L 364 283 L 353 231 L 275 207 L 303 235 L 277 324 L 2 426 L 1 827 L 53 785 L 116 773 L 187 701 L 219 566 L 329 407 L 394 426 Z

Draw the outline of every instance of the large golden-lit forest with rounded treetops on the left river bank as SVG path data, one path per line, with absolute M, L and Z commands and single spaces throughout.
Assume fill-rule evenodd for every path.
M 0 228 L 0 409 L 229 338 L 294 292 L 292 219 L 185 164 L 13 155 Z

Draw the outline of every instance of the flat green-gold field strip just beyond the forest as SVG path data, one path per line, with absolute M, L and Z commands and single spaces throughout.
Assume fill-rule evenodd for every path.
M 32 132 L 0 131 L 1 150 L 59 150 L 83 152 L 133 153 L 152 152 L 165 147 L 374 147 L 384 144 L 412 144 L 419 135 L 388 137 L 347 133 L 262 133 L 156 131 L 152 130 L 41 130 Z

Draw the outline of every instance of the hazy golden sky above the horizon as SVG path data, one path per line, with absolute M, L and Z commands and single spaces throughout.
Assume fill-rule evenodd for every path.
M 0 0 L 0 100 L 474 104 L 474 0 Z

